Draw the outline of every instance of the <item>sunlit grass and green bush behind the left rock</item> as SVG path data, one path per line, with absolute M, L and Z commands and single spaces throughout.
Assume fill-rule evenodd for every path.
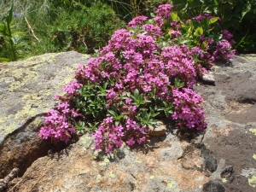
M 89 0 L 3 0 L 0 19 L 12 3 L 19 15 L 13 30 L 28 34 L 23 38 L 24 57 L 67 50 L 92 54 L 107 44 L 114 30 L 125 26 L 107 3 Z

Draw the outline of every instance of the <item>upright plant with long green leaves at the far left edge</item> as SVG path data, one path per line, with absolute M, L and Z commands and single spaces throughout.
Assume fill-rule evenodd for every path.
M 8 11 L 8 14 L 3 17 L 3 23 L 0 23 L 0 61 L 16 61 L 17 49 L 19 49 L 23 42 L 22 36 L 25 32 L 13 32 L 15 16 L 13 14 L 13 5 Z

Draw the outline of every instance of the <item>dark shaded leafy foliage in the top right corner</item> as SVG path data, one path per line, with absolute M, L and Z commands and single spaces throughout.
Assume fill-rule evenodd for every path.
M 220 27 L 229 30 L 236 41 L 235 48 L 241 52 L 256 50 L 256 1 L 249 0 L 173 0 L 187 18 L 204 13 L 222 19 Z

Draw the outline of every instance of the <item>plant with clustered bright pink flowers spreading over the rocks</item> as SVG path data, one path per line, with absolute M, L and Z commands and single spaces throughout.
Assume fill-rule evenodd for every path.
M 98 56 L 79 65 L 76 80 L 64 88 L 67 97 L 58 96 L 58 113 L 49 111 L 40 136 L 67 141 L 72 121 L 90 127 L 100 122 L 94 126 L 95 149 L 110 153 L 123 142 L 145 143 L 148 125 L 156 119 L 170 119 L 183 130 L 205 129 L 203 99 L 192 89 L 197 74 L 207 71 L 201 56 L 212 52 L 201 44 L 174 45 L 186 24 L 171 9 L 171 4 L 160 5 L 152 20 L 137 16 L 114 32 Z

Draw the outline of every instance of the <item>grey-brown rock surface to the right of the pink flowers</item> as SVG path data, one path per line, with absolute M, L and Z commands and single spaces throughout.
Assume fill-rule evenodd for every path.
M 226 191 L 230 192 L 256 191 L 248 184 L 248 178 L 241 176 L 242 170 L 256 168 L 256 160 L 253 159 L 256 137 L 249 131 L 255 128 L 256 122 L 255 67 L 255 59 L 253 63 L 247 63 L 246 59 L 235 57 L 232 65 L 218 65 L 215 84 L 201 82 L 195 88 L 207 100 L 207 118 L 211 119 L 216 113 L 220 117 L 215 119 L 215 123 L 210 122 L 207 128 L 216 139 L 207 137 L 204 143 L 218 162 L 223 159 L 225 166 L 233 166 L 231 174 L 234 180 L 224 183 Z M 239 68 L 240 72 L 237 72 Z M 211 101 L 211 95 L 215 95 L 214 101 Z M 226 125 L 221 123 L 223 119 Z

